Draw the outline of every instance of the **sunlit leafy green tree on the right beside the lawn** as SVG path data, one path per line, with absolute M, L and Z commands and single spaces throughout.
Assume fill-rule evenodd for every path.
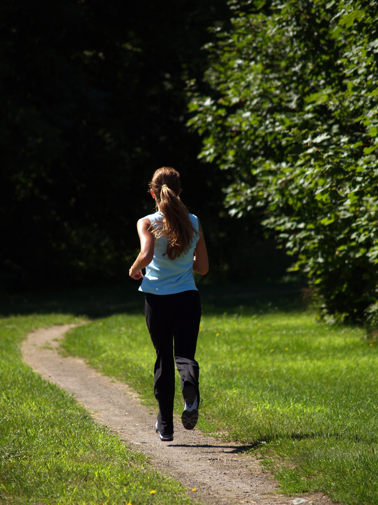
M 192 93 L 201 157 L 232 174 L 231 214 L 260 210 L 323 315 L 362 320 L 377 297 L 378 4 L 234 4 Z M 243 10 L 244 9 L 244 10 Z

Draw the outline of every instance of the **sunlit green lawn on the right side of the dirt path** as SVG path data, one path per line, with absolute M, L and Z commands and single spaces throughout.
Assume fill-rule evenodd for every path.
M 256 451 L 285 493 L 321 490 L 345 504 L 378 504 L 377 347 L 361 328 L 277 312 L 203 316 L 199 428 Z M 155 405 L 143 316 L 71 330 L 64 349 Z M 178 374 L 176 392 L 180 414 Z

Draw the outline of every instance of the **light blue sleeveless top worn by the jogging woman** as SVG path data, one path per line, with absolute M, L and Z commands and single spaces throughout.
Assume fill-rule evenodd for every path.
M 142 280 L 139 291 L 153 294 L 174 294 L 190 289 L 197 290 L 193 277 L 193 258 L 200 235 L 198 233 L 197 216 L 189 214 L 189 217 L 197 234 L 193 237 L 187 254 L 182 254 L 178 258 L 170 260 L 167 255 L 163 256 L 164 252 L 167 251 L 168 237 L 155 238 L 154 257 L 152 262 L 146 267 L 146 275 Z M 163 216 L 160 212 L 150 214 L 146 218 L 151 223 L 163 221 Z M 154 226 L 159 227 L 161 225 L 156 224 Z

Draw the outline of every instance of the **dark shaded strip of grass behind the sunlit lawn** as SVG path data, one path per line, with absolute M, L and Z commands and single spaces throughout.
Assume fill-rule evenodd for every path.
M 272 311 L 292 312 L 305 308 L 300 284 L 251 284 L 249 282 L 199 285 L 203 314 L 253 315 Z M 144 294 L 138 285 L 88 289 L 49 290 L 0 297 L 2 316 L 74 314 L 99 318 L 112 314 L 144 313 Z

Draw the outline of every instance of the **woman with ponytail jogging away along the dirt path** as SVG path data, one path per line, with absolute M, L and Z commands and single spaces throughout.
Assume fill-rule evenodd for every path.
M 173 440 L 174 362 L 184 399 L 182 424 L 192 430 L 198 420 L 195 353 L 201 300 L 193 272 L 205 275 L 209 270 L 202 227 L 180 200 L 179 177 L 170 167 L 154 173 L 149 191 L 157 212 L 138 221 L 141 252 L 130 269 L 130 277 L 143 279 L 139 290 L 146 293 L 146 323 L 156 350 L 154 394 L 159 414 L 155 429 L 163 441 Z M 145 276 L 142 268 L 146 268 Z

